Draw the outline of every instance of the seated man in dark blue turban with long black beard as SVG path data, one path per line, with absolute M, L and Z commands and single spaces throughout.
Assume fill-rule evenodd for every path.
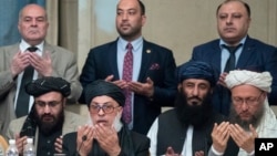
M 191 61 L 178 67 L 177 77 L 175 108 L 160 115 L 147 134 L 151 155 L 206 155 L 213 125 L 224 119 L 211 103 L 216 82 L 213 67 Z

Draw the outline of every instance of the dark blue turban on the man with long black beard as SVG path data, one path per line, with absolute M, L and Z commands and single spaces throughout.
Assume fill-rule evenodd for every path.
M 202 61 L 189 61 L 178 66 L 177 69 L 178 83 L 186 79 L 203 79 L 209 82 L 211 86 L 216 84 L 214 69 Z

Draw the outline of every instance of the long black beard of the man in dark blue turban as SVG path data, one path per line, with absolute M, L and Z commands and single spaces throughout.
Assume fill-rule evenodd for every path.
M 191 97 L 198 98 L 198 97 Z M 195 128 L 205 126 L 213 113 L 211 92 L 202 101 L 202 105 L 188 105 L 187 95 L 182 90 L 175 100 L 177 117 L 185 126 L 193 125 Z

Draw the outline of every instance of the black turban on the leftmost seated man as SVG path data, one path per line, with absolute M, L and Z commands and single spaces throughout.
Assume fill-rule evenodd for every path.
M 52 91 L 60 92 L 66 97 L 71 93 L 70 83 L 61 77 L 44 76 L 25 85 L 25 92 L 34 97 Z

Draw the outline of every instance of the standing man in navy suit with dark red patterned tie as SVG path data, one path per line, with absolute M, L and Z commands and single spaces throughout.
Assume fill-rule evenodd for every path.
M 116 9 L 119 39 L 91 49 L 80 76 L 84 90 L 89 83 L 101 79 L 123 89 L 126 102 L 131 94 L 131 111 L 126 111 L 130 108 L 126 103 L 123 118 L 131 129 L 142 134 L 147 133 L 155 117 L 161 114 L 162 106 L 172 106 L 177 92 L 173 53 L 143 39 L 142 27 L 145 21 L 142 1 L 121 0 Z M 124 61 L 125 53 L 130 53 L 133 59 Z M 130 62 L 132 67 L 126 70 L 125 63 L 130 65 Z M 125 74 L 130 69 L 131 74 Z M 80 102 L 84 103 L 83 94 Z

